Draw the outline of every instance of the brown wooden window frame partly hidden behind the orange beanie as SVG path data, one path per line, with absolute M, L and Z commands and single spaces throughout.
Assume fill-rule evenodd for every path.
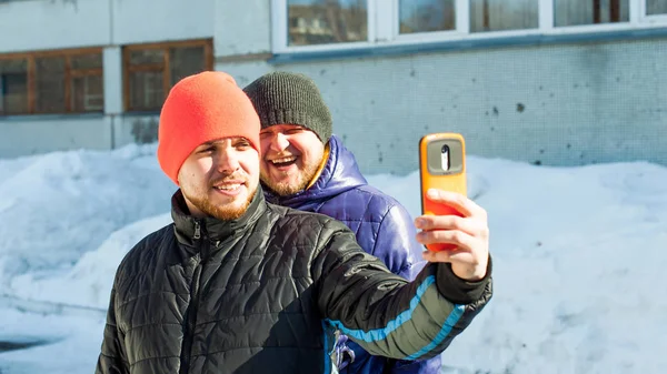
M 189 47 L 203 47 L 205 58 L 205 70 L 213 70 L 213 40 L 212 39 L 193 39 L 193 40 L 179 40 L 169 42 L 156 42 L 156 43 L 139 43 L 139 44 L 126 44 L 122 47 L 122 101 L 125 112 L 155 112 L 159 109 L 141 109 L 132 108 L 130 101 L 130 74 L 139 71 L 151 71 L 162 72 L 162 92 L 165 99 L 171 89 L 171 60 L 169 49 L 171 48 L 189 48 Z M 143 50 L 162 50 L 162 62 L 151 64 L 130 64 L 130 55 L 132 51 Z

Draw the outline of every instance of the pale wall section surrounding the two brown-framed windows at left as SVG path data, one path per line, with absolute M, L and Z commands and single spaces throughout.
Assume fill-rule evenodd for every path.
M 104 68 L 104 114 L 0 117 L 0 156 L 155 140 L 155 113 L 123 113 L 121 47 L 212 38 L 215 7 L 215 0 L 0 3 L 0 34 L 12 36 L 0 38 L 0 53 L 103 47 Z

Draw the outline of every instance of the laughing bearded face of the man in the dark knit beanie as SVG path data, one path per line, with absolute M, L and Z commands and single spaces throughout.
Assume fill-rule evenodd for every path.
M 315 178 L 325 144 L 317 134 L 293 124 L 277 124 L 262 129 L 261 181 L 281 196 L 306 189 Z

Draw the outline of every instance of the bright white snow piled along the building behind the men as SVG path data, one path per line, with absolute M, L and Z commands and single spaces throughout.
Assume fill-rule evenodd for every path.
M 663 373 L 667 169 L 468 159 L 495 296 L 444 373 Z M 125 253 L 168 224 L 155 146 L 0 160 L 0 373 L 92 373 Z M 369 182 L 419 214 L 417 172 Z M 46 344 L 44 344 L 46 343 Z

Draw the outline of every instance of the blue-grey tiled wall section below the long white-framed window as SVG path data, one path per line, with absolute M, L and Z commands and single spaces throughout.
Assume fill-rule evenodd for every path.
M 441 131 L 461 132 L 469 153 L 489 158 L 667 164 L 665 61 L 667 40 L 277 68 L 316 80 L 364 171 L 401 174 L 417 169 L 419 138 Z

